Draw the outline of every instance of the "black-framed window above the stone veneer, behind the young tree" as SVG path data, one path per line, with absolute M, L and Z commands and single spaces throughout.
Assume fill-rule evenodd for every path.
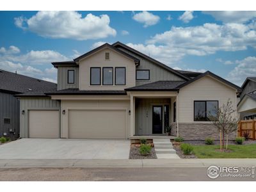
M 217 116 L 218 100 L 195 100 L 194 101 L 194 121 L 207 122 L 209 117 Z

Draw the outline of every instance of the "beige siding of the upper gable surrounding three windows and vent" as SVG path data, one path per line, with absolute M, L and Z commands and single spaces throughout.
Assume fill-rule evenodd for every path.
M 110 60 L 105 60 L 105 52 L 110 53 Z M 90 86 L 90 67 L 125 67 L 126 85 L 115 86 L 115 68 L 113 72 L 113 86 Z M 102 70 L 101 70 L 102 84 Z M 79 89 L 80 90 L 124 90 L 135 86 L 135 64 L 130 58 L 109 48 L 102 49 L 79 63 Z

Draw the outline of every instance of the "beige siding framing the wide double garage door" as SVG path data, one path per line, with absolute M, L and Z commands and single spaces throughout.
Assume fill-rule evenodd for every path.
M 129 137 L 129 108 L 130 101 L 129 100 L 61 100 L 61 111 L 65 110 L 65 115 L 61 114 L 61 138 L 69 138 L 68 129 L 72 129 L 72 127 L 68 127 L 70 123 L 68 120 L 70 119 L 69 113 L 72 110 L 122 110 L 126 111 L 125 116 L 127 122 L 125 125 L 127 127 L 127 137 Z M 100 112 L 101 113 L 101 112 Z M 98 121 L 100 116 L 92 116 L 93 121 Z M 113 121 L 116 116 L 113 117 Z M 85 122 L 84 122 L 85 124 Z M 126 129 L 126 128 L 125 128 Z

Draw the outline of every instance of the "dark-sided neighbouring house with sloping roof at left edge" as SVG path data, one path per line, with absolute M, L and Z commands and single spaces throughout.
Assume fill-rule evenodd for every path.
M 51 90 L 56 90 L 55 83 L 0 70 L 0 137 L 19 138 L 20 100 L 13 95 Z

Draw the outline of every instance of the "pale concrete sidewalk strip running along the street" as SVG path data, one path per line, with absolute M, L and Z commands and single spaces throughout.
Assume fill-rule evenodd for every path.
M 200 168 L 256 166 L 256 159 L 0 159 L 0 168 Z

